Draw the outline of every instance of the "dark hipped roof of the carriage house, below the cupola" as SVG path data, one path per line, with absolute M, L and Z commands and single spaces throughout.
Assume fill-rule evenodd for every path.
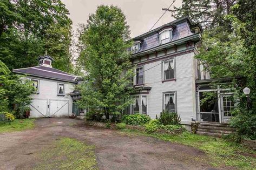
M 19 74 L 28 74 L 30 76 L 35 77 L 42 77 L 42 78 L 48 78 L 48 79 L 54 79 L 54 80 L 60 80 L 60 81 L 69 81 L 72 83 L 76 83 L 77 76 L 54 69 L 47 66 L 35 66 L 35 67 L 28 67 L 23 69 L 15 69 L 12 70 L 14 73 Z

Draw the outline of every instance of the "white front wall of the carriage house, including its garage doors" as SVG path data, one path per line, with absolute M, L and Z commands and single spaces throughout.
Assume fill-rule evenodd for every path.
M 68 95 L 75 89 L 75 83 L 45 78 L 26 77 L 39 80 L 39 93 L 31 94 L 30 117 L 67 117 L 72 113 L 72 99 Z M 65 96 L 57 95 L 58 83 L 64 84 Z M 49 105 L 49 107 L 48 107 Z

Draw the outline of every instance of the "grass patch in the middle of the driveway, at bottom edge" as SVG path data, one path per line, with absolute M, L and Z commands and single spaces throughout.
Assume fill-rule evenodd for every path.
M 95 147 L 71 138 L 61 138 L 45 149 L 35 169 L 98 169 Z

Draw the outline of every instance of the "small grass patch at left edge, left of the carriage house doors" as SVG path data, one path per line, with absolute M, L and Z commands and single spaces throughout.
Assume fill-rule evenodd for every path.
M 22 122 L 21 122 L 22 121 Z M 35 127 L 35 119 L 16 119 L 9 123 L 0 124 L 0 133 L 1 132 L 14 132 L 14 131 L 24 131 L 29 130 Z

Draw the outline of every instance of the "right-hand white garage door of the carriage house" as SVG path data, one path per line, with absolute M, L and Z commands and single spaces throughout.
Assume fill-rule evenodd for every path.
M 66 117 L 69 111 L 69 100 L 49 100 L 49 117 Z

